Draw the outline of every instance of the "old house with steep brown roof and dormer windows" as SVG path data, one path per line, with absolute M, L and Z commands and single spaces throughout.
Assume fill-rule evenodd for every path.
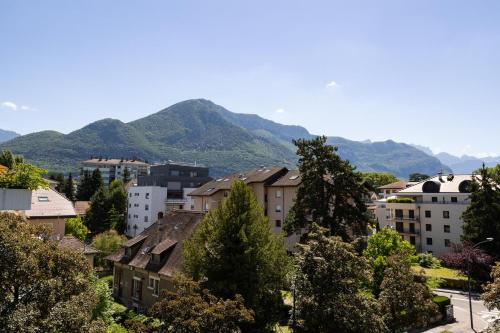
M 108 256 L 115 299 L 138 312 L 150 308 L 182 271 L 182 244 L 202 218 L 202 212 L 170 212 Z

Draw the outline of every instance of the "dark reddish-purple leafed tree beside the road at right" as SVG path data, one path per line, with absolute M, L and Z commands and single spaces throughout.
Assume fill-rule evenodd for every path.
M 470 260 L 470 273 L 472 278 L 479 281 L 487 281 L 491 265 L 494 259 L 481 248 L 474 248 L 473 244 L 465 242 L 461 244 L 451 244 L 451 251 L 443 254 L 441 262 L 444 266 L 457 268 L 463 274 L 467 274 L 467 263 Z

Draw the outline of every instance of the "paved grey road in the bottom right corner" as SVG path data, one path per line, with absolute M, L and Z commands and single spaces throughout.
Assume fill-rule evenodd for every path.
M 444 330 L 449 330 L 453 333 L 471 333 L 470 317 L 469 317 L 469 299 L 467 294 L 455 294 L 446 291 L 436 292 L 438 295 L 450 297 L 453 304 L 456 322 L 448 325 L 438 326 L 425 331 L 426 333 L 440 333 Z M 477 297 L 472 300 L 472 314 L 474 319 L 474 329 L 476 332 L 481 332 L 488 326 L 488 322 L 500 318 L 500 311 L 488 311 L 483 302 Z

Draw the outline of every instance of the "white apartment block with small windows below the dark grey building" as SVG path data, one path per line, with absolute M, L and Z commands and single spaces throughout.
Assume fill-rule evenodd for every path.
M 133 186 L 128 190 L 127 235 L 134 237 L 165 213 L 167 188 L 160 186 Z

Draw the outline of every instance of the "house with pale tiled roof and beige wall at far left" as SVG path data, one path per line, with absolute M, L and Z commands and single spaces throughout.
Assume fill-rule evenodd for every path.
M 31 209 L 25 210 L 24 215 L 28 223 L 50 226 L 56 239 L 64 236 L 65 219 L 77 216 L 73 203 L 50 188 L 31 192 Z

